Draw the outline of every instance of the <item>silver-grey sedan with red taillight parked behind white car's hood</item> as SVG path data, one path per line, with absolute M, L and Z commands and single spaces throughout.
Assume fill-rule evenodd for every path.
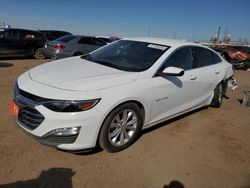
M 49 58 L 60 59 L 87 54 L 106 44 L 106 42 L 96 37 L 66 35 L 46 43 L 43 54 Z

